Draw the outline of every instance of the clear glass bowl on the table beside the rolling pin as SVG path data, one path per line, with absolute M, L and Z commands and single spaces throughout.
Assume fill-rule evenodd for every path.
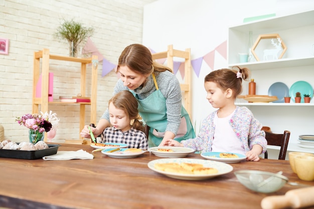
M 279 174 L 259 170 L 239 170 L 234 174 L 245 187 L 262 193 L 271 193 L 279 190 L 288 178 Z

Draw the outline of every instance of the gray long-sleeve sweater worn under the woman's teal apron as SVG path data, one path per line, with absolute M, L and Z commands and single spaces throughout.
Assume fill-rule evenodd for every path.
M 177 77 L 169 72 L 155 72 L 156 81 L 158 87 L 166 98 L 166 108 L 167 108 L 167 128 L 166 131 L 171 131 L 177 134 L 181 121 L 181 107 L 182 107 L 182 93 L 180 88 L 180 83 Z M 113 95 L 122 91 L 129 90 L 127 87 L 123 86 L 121 79 L 118 80 L 114 87 Z M 137 94 L 138 99 L 145 99 L 152 92 L 156 91 L 152 75 L 148 76 L 147 81 L 143 87 L 138 87 L 134 90 Z M 151 104 L 154 105 L 154 104 Z M 109 111 L 106 109 L 101 119 L 106 119 L 109 121 Z

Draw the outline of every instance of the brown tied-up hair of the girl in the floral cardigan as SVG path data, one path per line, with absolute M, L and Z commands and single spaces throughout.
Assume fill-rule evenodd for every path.
M 236 98 L 242 93 L 242 79 L 248 80 L 250 71 L 247 68 L 240 68 L 235 66 L 238 70 L 220 69 L 212 71 L 210 74 L 205 76 L 205 82 L 214 82 L 217 86 L 225 91 L 232 89 L 234 92 L 233 97 Z

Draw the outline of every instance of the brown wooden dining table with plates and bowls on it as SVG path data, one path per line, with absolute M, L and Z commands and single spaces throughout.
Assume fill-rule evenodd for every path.
M 94 150 L 89 145 L 61 144 L 58 151 L 80 149 Z M 300 180 L 287 160 L 244 160 L 229 163 L 233 170 L 214 178 L 181 180 L 149 169 L 149 161 L 163 158 L 150 152 L 135 158 L 92 154 L 93 159 L 72 160 L 0 158 L 0 207 L 256 209 L 263 197 L 301 188 L 285 184 L 274 193 L 254 192 L 237 180 L 237 170 L 283 171 L 290 182 L 314 186 L 314 181 Z M 187 158 L 204 159 L 195 153 Z

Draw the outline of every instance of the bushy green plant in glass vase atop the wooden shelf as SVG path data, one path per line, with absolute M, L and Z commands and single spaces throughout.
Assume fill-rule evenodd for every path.
M 77 57 L 79 44 L 82 41 L 85 41 L 89 36 L 93 35 L 94 31 L 94 28 L 86 28 L 80 22 L 63 20 L 63 23 L 57 29 L 55 36 L 59 39 L 66 39 L 70 45 L 70 57 Z

